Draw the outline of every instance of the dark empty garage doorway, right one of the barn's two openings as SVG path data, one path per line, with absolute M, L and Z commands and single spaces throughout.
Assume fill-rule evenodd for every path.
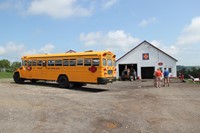
M 153 79 L 155 67 L 141 67 L 142 79 Z

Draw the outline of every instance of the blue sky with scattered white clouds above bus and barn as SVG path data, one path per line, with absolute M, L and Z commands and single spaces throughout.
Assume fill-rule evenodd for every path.
M 144 40 L 200 65 L 199 0 L 0 0 L 0 59 L 110 50 L 117 59 Z

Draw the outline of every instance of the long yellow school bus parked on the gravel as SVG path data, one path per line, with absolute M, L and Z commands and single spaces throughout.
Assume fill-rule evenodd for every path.
M 13 79 L 15 83 L 56 81 L 62 88 L 107 84 L 116 80 L 115 55 L 110 51 L 27 55 Z

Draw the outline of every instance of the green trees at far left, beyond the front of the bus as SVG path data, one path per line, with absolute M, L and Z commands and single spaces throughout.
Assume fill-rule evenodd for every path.
M 10 62 L 7 59 L 0 60 L 0 72 L 14 72 L 17 68 L 21 66 L 21 62 Z

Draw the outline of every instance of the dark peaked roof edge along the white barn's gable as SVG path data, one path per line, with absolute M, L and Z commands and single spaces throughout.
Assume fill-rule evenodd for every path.
M 134 47 L 133 49 L 131 49 L 130 51 L 128 51 L 126 54 L 124 54 L 122 57 L 120 57 L 117 62 L 119 60 L 121 60 L 122 58 L 124 58 L 126 55 L 128 55 L 129 53 L 131 53 L 132 51 L 134 51 L 135 49 L 137 49 L 140 45 L 142 45 L 143 43 L 147 43 L 149 44 L 150 46 L 152 46 L 153 48 L 159 50 L 160 52 L 164 53 L 165 55 L 169 56 L 170 58 L 172 58 L 173 60 L 175 61 L 178 61 L 177 59 L 175 59 L 174 57 L 170 56 L 169 54 L 165 53 L 164 51 L 162 51 L 161 49 L 155 47 L 154 45 L 152 45 L 151 43 L 149 43 L 148 41 L 144 40 L 143 42 L 141 42 L 139 45 L 137 45 L 136 47 Z

